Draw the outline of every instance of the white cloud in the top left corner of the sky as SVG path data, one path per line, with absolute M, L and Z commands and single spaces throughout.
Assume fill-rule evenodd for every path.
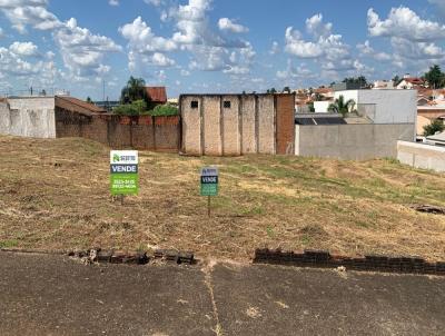
M 59 19 L 47 10 L 48 0 L 0 0 L 0 10 L 21 33 L 26 26 L 38 30 L 52 30 L 61 26 Z

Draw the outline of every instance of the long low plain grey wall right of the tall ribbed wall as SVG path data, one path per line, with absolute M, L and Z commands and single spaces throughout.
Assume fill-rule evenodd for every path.
M 343 160 L 396 158 L 397 141 L 412 141 L 414 129 L 414 123 L 297 125 L 295 152 Z

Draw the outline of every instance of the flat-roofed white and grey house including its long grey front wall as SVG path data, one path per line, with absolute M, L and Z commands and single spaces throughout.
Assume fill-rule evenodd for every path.
M 357 116 L 297 116 L 295 154 L 305 157 L 366 160 L 397 156 L 397 141 L 414 141 L 415 90 L 345 90 L 335 98 L 353 99 Z

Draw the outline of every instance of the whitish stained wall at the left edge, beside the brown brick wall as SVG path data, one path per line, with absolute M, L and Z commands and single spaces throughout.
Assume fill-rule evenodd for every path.
M 53 97 L 9 98 L 0 107 L 0 113 L 3 135 L 56 138 Z

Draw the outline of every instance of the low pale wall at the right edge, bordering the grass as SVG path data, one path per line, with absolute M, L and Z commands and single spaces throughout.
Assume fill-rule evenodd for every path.
M 445 148 L 419 142 L 398 141 L 397 159 L 415 168 L 445 171 Z

